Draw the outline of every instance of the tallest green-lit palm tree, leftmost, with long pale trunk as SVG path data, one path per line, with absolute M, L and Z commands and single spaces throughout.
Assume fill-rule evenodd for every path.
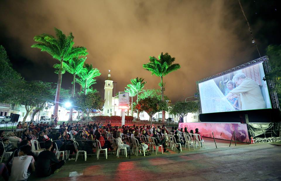
M 56 116 L 59 109 L 59 94 L 61 89 L 61 79 L 63 71 L 63 63 L 73 57 L 86 56 L 88 54 L 85 47 L 73 46 L 74 36 L 70 32 L 66 36 L 61 30 L 54 28 L 56 37 L 43 33 L 36 35 L 33 39 L 38 42 L 33 44 L 32 48 L 39 48 L 41 51 L 49 53 L 54 59 L 60 61 L 60 68 L 58 71 L 58 83 L 56 87 L 55 106 L 53 114 Z

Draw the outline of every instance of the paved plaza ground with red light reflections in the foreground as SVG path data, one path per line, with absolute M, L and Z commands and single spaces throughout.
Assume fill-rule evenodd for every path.
M 218 181 L 218 180 L 281 180 L 281 146 L 270 143 L 238 144 L 204 138 L 206 149 L 184 150 L 181 153 L 152 154 L 150 156 L 109 155 L 82 157 L 67 161 L 62 170 L 47 178 L 30 180 L 116 180 L 116 181 Z

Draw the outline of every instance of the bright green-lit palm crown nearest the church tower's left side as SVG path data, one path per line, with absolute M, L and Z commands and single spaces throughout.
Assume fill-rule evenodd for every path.
M 92 64 L 85 64 L 83 70 L 78 74 L 79 78 L 76 78 L 76 81 L 80 86 L 83 88 L 82 92 L 83 94 L 87 95 L 88 92 L 96 92 L 96 89 L 93 89 L 91 86 L 93 84 L 96 84 L 96 79 L 94 79 L 97 76 L 100 76 L 100 70 L 97 68 L 93 68 Z

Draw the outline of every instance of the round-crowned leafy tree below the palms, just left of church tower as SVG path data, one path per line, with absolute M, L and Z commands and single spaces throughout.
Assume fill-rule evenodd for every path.
M 75 104 L 78 106 L 78 109 L 81 109 L 87 114 L 87 118 L 93 109 L 101 109 L 104 105 L 104 99 L 100 96 L 98 92 L 80 94 L 75 98 Z

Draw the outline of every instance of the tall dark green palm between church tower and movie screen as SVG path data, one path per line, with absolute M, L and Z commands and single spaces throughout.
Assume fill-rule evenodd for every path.
M 163 55 L 163 52 L 158 56 L 158 59 L 155 57 L 149 57 L 149 61 L 149 63 L 143 65 L 143 68 L 150 71 L 152 75 L 156 75 L 157 77 L 161 78 L 159 86 L 161 87 L 162 101 L 164 101 L 165 83 L 163 83 L 163 77 L 175 70 L 178 70 L 181 66 L 177 63 L 173 64 L 173 62 L 175 61 L 175 57 L 172 58 L 168 53 L 165 53 L 165 55 Z M 165 111 L 162 111 L 162 122 L 164 121 Z

